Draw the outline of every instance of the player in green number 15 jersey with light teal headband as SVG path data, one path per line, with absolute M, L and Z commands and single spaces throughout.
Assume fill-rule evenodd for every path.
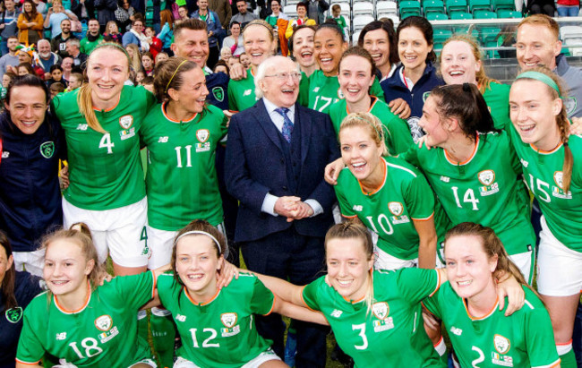
M 543 214 L 537 289 L 561 365 L 576 366 L 571 338 L 582 290 L 582 139 L 569 134 L 563 91 L 547 69 L 520 73 L 509 91 L 509 131 Z

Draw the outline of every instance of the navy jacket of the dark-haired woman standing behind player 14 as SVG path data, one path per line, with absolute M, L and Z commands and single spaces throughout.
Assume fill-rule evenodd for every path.
M 400 79 L 402 68 L 404 68 L 403 65 L 398 66 L 392 76 L 382 81 L 380 85 L 384 91 L 384 98 L 387 104 L 397 98 L 403 98 L 407 101 L 411 110 L 410 116 L 407 118 L 407 123 L 410 125 L 410 132 L 412 133 L 413 139 L 417 141 L 418 138 L 424 135 L 423 130 L 418 126 L 418 121 L 423 116 L 424 101 L 426 101 L 426 98 L 428 98 L 428 95 L 434 87 L 442 86 L 445 83 L 437 76 L 437 71 L 432 66 L 432 63 L 427 61 L 423 76 L 416 81 L 412 91 L 408 90 L 407 86 Z

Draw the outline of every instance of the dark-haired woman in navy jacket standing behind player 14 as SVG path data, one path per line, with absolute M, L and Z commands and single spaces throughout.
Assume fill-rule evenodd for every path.
M 387 102 L 403 98 L 411 109 L 407 118 L 413 139 L 424 135 L 418 125 L 423 115 L 424 101 L 431 90 L 443 83 L 432 63 L 436 60 L 432 50 L 432 25 L 426 18 L 411 16 L 401 21 L 396 30 L 400 62 L 392 76 L 381 82 Z

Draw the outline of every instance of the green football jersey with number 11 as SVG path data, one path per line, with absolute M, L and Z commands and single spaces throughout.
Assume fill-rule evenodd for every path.
M 202 114 L 176 122 L 165 108 L 153 107 L 141 126 L 141 140 L 148 147 L 148 223 L 175 231 L 201 218 L 217 226 L 223 212 L 214 161 L 218 142 L 227 134 L 227 118 L 210 105 Z

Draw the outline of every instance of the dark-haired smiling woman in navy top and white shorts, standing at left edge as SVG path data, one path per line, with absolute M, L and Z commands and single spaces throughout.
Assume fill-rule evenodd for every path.
M 63 223 L 58 162 L 66 147 L 60 124 L 47 113 L 48 90 L 33 75 L 16 78 L 0 116 L 0 228 L 13 246 L 16 270 L 40 276 L 35 252 L 47 229 Z

